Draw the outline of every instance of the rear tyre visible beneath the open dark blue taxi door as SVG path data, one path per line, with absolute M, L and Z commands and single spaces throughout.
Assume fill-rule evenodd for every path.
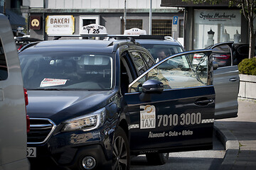
M 153 153 L 146 154 L 146 160 L 149 164 L 162 165 L 166 164 L 169 158 L 169 153 Z

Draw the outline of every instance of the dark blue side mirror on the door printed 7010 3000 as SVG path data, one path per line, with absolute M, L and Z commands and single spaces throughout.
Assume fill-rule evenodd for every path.
M 161 94 L 164 91 L 164 84 L 160 81 L 149 79 L 142 84 L 141 101 L 151 101 L 151 94 Z

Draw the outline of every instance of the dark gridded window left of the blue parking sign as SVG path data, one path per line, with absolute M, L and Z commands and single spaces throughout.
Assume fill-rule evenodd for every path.
M 172 20 L 152 20 L 152 35 L 171 36 Z

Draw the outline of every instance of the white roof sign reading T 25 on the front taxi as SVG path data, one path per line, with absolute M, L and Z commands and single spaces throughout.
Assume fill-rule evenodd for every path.
M 82 27 L 80 35 L 107 35 L 105 26 L 90 24 Z

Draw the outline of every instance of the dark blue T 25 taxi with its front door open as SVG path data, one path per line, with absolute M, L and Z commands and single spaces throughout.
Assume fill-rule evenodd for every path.
M 192 69 L 195 54 L 206 56 L 207 67 Z M 23 47 L 31 169 L 129 169 L 132 155 L 164 164 L 168 152 L 212 149 L 210 54 L 182 52 L 155 63 L 129 40 L 49 40 Z

